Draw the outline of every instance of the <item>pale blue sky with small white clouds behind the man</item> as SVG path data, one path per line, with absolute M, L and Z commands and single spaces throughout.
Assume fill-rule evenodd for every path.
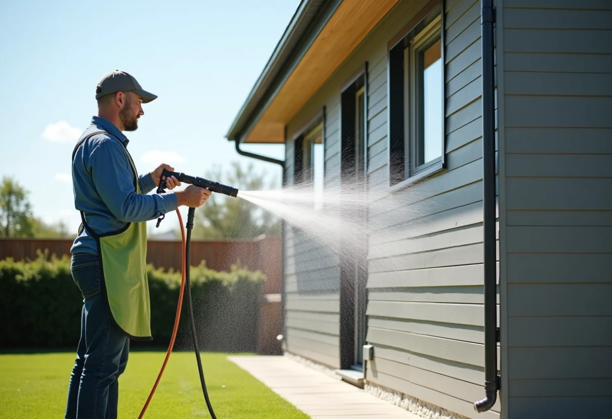
M 80 218 L 70 156 L 97 112 L 95 85 L 115 69 L 159 96 L 143 105 L 138 130 L 126 133 L 141 173 L 160 159 L 195 176 L 241 160 L 280 176 L 278 165 L 239 156 L 224 135 L 298 4 L 6 2 L 0 13 L 0 176 L 15 176 L 29 191 L 35 216 L 64 219 L 75 232 Z M 281 145 L 244 148 L 283 157 Z M 170 217 L 162 225 L 176 228 L 176 216 Z

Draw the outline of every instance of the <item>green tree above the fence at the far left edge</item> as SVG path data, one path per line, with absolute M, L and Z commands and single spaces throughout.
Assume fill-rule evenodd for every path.
M 0 185 L 0 223 L 5 237 L 32 237 L 32 209 L 28 191 L 4 176 Z

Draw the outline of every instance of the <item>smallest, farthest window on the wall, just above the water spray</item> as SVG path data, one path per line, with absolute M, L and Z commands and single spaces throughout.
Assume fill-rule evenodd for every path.
M 323 206 L 323 121 L 309 124 L 294 141 L 294 184 L 310 185 L 314 189 L 313 206 Z

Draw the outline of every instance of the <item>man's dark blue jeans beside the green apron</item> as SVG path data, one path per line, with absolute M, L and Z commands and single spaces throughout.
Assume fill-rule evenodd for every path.
M 70 270 L 83 295 L 83 310 L 65 419 L 115 419 L 119 376 L 125 371 L 130 340 L 111 319 L 100 288 L 99 258 L 74 254 Z

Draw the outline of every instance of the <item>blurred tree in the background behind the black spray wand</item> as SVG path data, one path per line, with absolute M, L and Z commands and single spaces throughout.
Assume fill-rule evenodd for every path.
M 256 173 L 252 163 L 245 170 L 239 162 L 232 162 L 225 175 L 217 166 L 204 177 L 244 191 L 272 189 L 278 184 L 274 179 L 267 181 L 265 171 Z M 240 193 L 238 198 L 212 194 L 207 202 L 196 210 L 192 237 L 255 238 L 263 234 L 280 234 L 277 217 L 239 197 Z

